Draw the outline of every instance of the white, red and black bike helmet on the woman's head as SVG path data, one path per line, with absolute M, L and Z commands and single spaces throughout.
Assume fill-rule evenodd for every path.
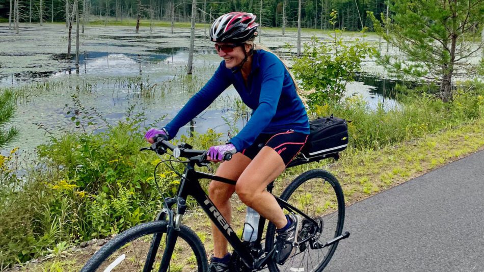
M 254 37 L 258 23 L 255 16 L 247 12 L 230 12 L 217 18 L 210 26 L 210 40 L 212 42 L 243 43 Z

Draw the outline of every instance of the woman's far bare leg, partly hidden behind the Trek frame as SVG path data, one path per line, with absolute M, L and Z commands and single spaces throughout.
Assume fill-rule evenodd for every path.
M 232 180 L 238 180 L 240 174 L 250 164 L 251 159 L 241 153 L 236 153 L 229 161 L 223 162 L 217 169 L 216 175 Z M 213 204 L 219 209 L 224 216 L 227 223 L 232 222 L 232 206 L 230 204 L 230 197 L 235 191 L 235 186 L 220 181 L 212 180 L 208 186 L 208 195 Z M 222 258 L 227 254 L 227 239 L 219 231 L 219 229 L 212 225 L 213 234 L 213 256 Z

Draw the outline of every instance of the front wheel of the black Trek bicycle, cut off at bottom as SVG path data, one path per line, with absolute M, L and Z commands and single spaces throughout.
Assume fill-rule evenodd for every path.
M 154 221 L 130 228 L 107 242 L 86 263 L 81 272 L 158 271 L 165 250 L 168 222 Z M 156 253 L 152 265 L 145 265 L 153 237 Z M 145 267 L 146 266 L 146 267 Z M 206 272 L 207 255 L 198 236 L 181 225 L 170 260 L 170 271 Z

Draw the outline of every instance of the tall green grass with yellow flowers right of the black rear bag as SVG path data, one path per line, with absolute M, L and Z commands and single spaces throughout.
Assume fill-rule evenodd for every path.
M 483 96 L 482 87 L 460 92 L 448 103 L 432 95 L 411 94 L 400 96 L 399 106 L 389 110 L 383 103 L 372 110 L 361 97 L 354 96 L 339 104 L 317 106 L 313 114 L 334 114 L 351 121 L 348 124 L 351 146 L 379 149 L 484 117 Z

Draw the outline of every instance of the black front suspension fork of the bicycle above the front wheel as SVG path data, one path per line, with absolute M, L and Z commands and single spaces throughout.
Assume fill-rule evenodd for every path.
M 171 207 L 173 204 L 177 204 L 176 216 L 174 215 Z M 180 231 L 181 221 L 183 219 L 183 214 L 186 211 L 186 201 L 182 197 L 175 196 L 174 198 L 166 198 L 163 210 L 156 217 L 156 221 L 167 220 L 168 216 L 168 227 L 167 227 L 167 237 L 166 237 L 166 247 L 163 253 L 162 262 L 158 271 L 164 272 L 168 271 L 170 266 L 170 259 L 175 249 L 176 239 L 178 238 L 178 232 Z M 150 272 L 153 270 L 154 260 L 156 258 L 156 253 L 158 251 L 159 244 L 162 240 L 163 233 L 155 233 L 153 239 L 151 240 L 150 249 L 148 255 L 146 256 L 145 266 L 143 272 Z

